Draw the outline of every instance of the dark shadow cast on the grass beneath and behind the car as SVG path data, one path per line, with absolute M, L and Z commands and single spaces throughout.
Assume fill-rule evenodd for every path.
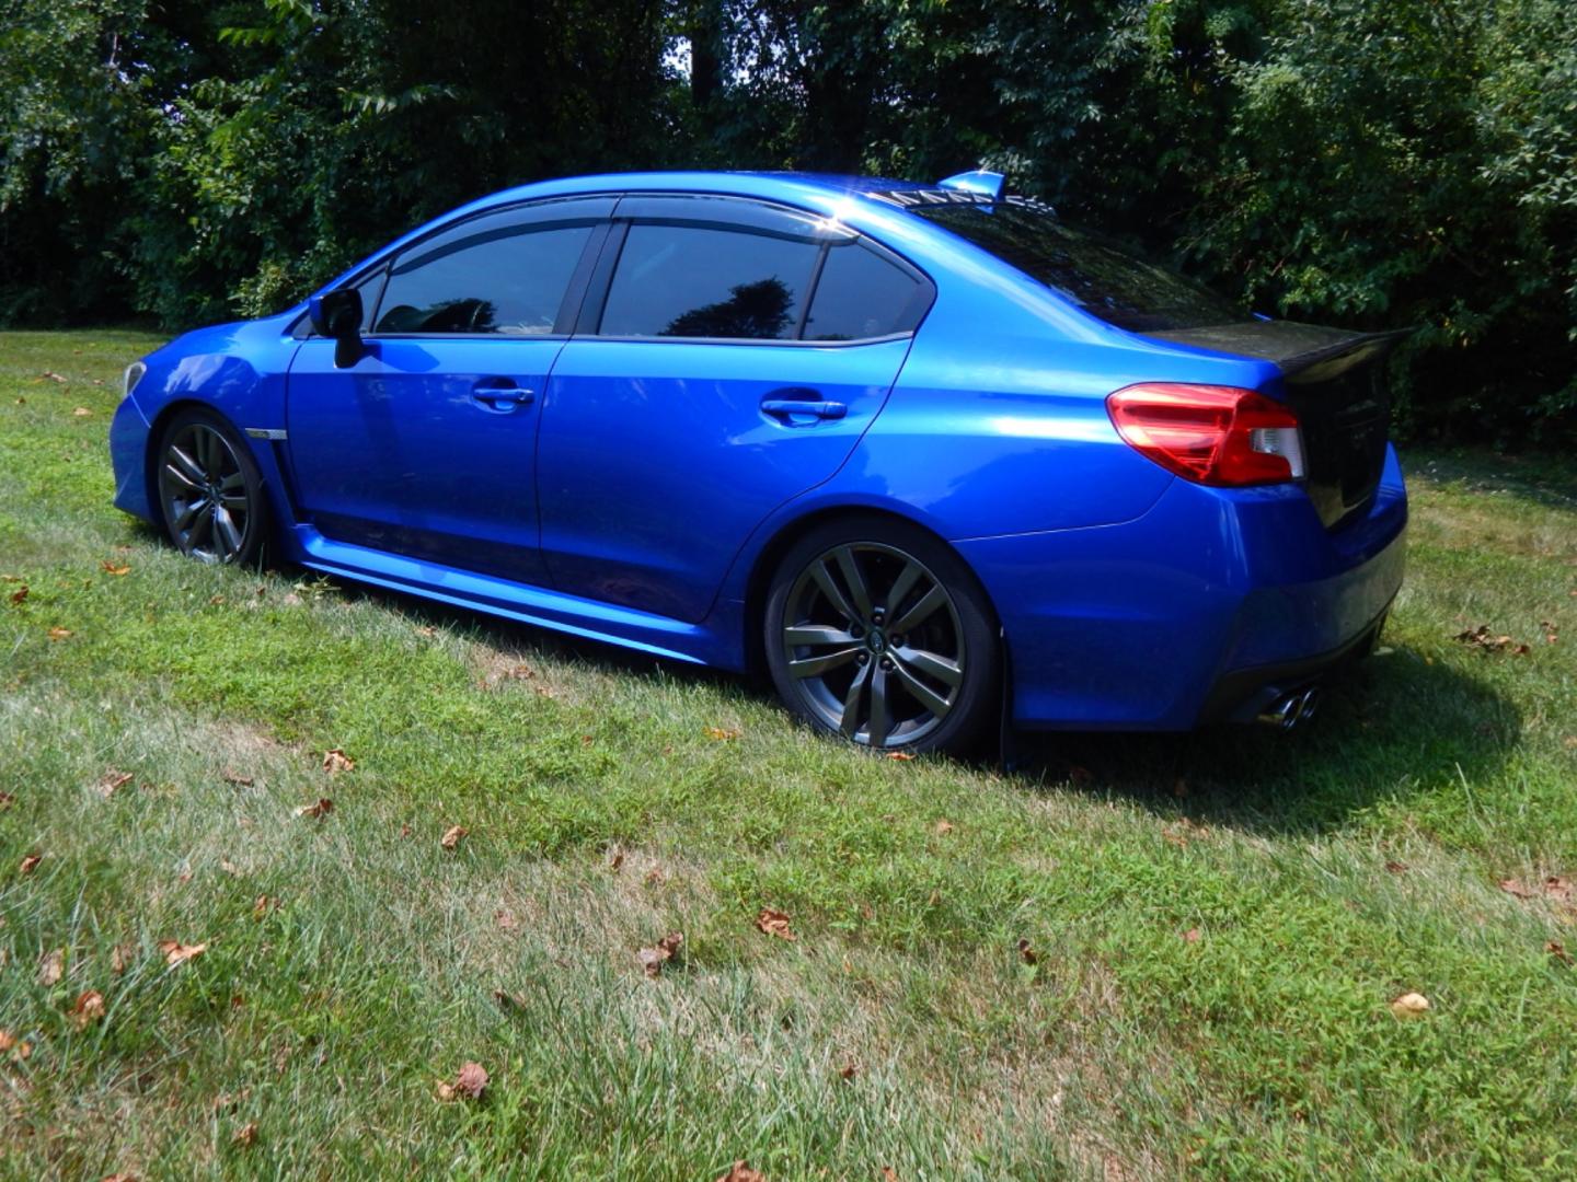
M 331 583 L 345 597 L 405 616 L 412 627 L 453 629 L 522 662 L 572 660 L 613 676 L 680 678 L 776 701 L 765 678 L 654 657 L 352 580 Z M 1290 733 L 1260 725 L 1181 734 L 1019 731 L 1006 752 L 992 744 L 960 766 L 995 768 L 1028 793 L 1115 796 L 1169 818 L 1312 834 L 1339 827 L 1383 799 L 1492 777 L 1515 747 L 1520 722 L 1512 701 L 1484 681 L 1396 648 L 1333 678 L 1318 716 Z

